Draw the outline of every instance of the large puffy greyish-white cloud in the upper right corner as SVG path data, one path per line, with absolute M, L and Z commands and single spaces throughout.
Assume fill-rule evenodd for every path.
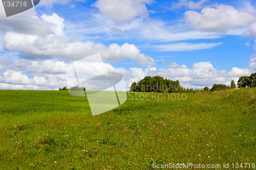
M 249 27 L 256 20 L 256 15 L 221 4 L 205 7 L 201 12 L 186 11 L 185 20 L 193 28 L 201 31 L 226 32 L 233 28 Z

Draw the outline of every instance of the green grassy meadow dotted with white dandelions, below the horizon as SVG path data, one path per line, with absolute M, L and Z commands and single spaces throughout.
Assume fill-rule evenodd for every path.
M 0 90 L 0 169 L 256 163 L 256 88 L 186 100 L 128 94 L 122 106 L 92 116 L 87 98 L 68 91 Z

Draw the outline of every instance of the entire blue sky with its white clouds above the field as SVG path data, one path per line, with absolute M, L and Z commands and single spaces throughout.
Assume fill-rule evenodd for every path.
M 10 17 L 1 5 L 0 89 L 67 86 L 67 66 L 97 53 L 104 64 L 86 74 L 120 72 L 126 88 L 160 75 L 201 89 L 256 72 L 255 1 L 42 0 Z

